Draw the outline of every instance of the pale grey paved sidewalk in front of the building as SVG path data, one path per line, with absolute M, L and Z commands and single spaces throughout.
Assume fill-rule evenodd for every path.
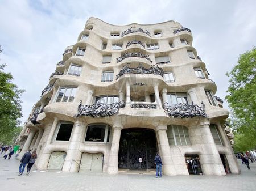
M 18 176 L 19 160 L 14 156 L 4 160 L 0 155 L 0 188 L 6 191 L 245 191 L 256 190 L 256 163 L 251 170 L 241 164 L 241 175 L 227 176 L 163 176 L 106 173 L 68 173 L 61 171 L 35 171 Z

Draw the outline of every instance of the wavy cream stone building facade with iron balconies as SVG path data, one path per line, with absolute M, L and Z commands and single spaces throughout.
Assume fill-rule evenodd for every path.
M 31 148 L 38 169 L 117 174 L 154 169 L 159 151 L 165 175 L 240 173 L 208 76 L 177 22 L 89 18 L 32 109 L 20 156 Z

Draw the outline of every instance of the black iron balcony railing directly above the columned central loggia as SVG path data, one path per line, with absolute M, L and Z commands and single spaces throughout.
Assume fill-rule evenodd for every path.
M 158 65 L 153 65 L 149 69 L 145 69 L 141 64 L 139 67 L 131 68 L 130 64 L 128 63 L 127 65 L 123 66 L 119 74 L 117 74 L 116 79 L 121 77 L 123 74 L 155 74 L 163 77 L 164 72 L 162 68 L 158 67 Z

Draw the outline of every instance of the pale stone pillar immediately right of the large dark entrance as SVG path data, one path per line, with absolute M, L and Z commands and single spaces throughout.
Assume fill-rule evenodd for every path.
M 160 145 L 160 156 L 163 161 L 163 174 L 164 175 L 169 175 L 169 176 L 174 176 L 177 175 L 177 172 L 174 167 L 174 162 L 172 161 L 171 157 L 171 151 L 170 151 L 170 146 L 168 142 L 168 137 L 167 137 L 167 126 L 166 125 L 159 125 L 156 127 L 156 131 L 158 133 L 158 138 L 159 138 L 159 145 Z

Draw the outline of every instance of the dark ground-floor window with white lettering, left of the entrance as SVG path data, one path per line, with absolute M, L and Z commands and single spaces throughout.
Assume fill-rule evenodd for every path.
M 87 127 L 85 141 L 109 142 L 110 126 L 105 124 L 89 125 Z

